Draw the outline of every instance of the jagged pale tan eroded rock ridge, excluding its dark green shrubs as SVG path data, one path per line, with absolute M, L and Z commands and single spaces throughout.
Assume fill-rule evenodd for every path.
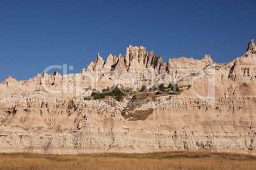
M 79 74 L 56 71 L 27 81 L 8 76 L 0 84 L 0 152 L 208 150 L 256 155 L 255 71 L 252 39 L 243 56 L 224 64 L 210 55 L 164 63 L 143 46 L 129 45 L 124 57 L 110 54 L 105 62 L 98 54 Z M 132 94 L 122 101 L 85 99 L 115 84 L 136 90 L 159 82 L 177 83 L 181 92 L 138 92 L 143 104 L 130 108 Z M 148 115 L 144 120 L 127 118 L 132 113 Z

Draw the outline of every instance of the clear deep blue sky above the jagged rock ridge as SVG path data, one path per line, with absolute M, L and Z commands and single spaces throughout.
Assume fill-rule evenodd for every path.
M 109 53 L 124 56 L 128 45 L 145 46 L 164 62 L 206 53 L 228 62 L 252 38 L 256 0 L 0 0 L 0 81 L 27 80 L 53 64 L 80 73 L 98 52 L 104 60 Z

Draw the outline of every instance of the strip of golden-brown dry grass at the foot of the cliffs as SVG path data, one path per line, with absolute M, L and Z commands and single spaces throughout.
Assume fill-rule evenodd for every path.
M 256 169 L 256 157 L 185 151 L 89 155 L 0 153 L 0 169 Z

